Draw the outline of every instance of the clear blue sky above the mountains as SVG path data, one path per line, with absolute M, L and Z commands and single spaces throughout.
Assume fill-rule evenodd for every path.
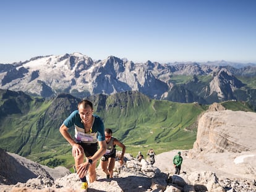
M 256 63 L 255 0 L 1 0 L 0 63 L 80 52 Z

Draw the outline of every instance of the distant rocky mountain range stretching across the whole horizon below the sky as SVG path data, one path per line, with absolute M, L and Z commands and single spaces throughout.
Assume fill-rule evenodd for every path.
M 255 65 L 237 69 L 224 61 L 204 64 L 134 63 L 114 56 L 93 61 L 83 54 L 73 53 L 0 64 L 0 88 L 44 98 L 59 93 L 84 98 L 132 90 L 149 98 L 174 102 L 212 104 L 237 99 L 256 106 L 255 88 L 240 80 L 241 77 L 252 78 L 255 75 Z

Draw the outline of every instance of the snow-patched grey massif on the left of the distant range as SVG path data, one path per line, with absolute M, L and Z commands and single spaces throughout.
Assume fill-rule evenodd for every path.
M 1 72 L 0 78 L 2 89 L 45 97 L 59 92 L 111 94 L 127 90 L 153 96 L 168 90 L 166 83 L 156 79 L 145 66 L 113 56 L 94 62 L 79 53 L 36 57 Z

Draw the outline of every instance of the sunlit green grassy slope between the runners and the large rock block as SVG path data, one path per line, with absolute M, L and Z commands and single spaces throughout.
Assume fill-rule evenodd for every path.
M 190 131 L 184 128 L 191 126 L 204 110 L 198 104 L 156 101 L 139 96 L 130 98 L 128 106 L 110 109 L 105 117 L 105 127 L 112 128 L 113 135 L 134 155 L 138 151 L 146 152 L 148 148 L 154 148 L 156 152 L 190 148 L 197 127 Z

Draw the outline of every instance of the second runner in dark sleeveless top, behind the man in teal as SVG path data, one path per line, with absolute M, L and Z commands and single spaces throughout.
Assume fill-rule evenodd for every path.
M 113 178 L 114 164 L 116 162 L 116 144 L 122 148 L 122 154 L 119 160 L 120 165 L 124 164 L 126 146 L 112 136 L 112 130 L 110 128 L 105 129 L 105 138 L 106 153 L 101 157 L 100 165 L 103 172 L 106 173 L 106 178 Z

